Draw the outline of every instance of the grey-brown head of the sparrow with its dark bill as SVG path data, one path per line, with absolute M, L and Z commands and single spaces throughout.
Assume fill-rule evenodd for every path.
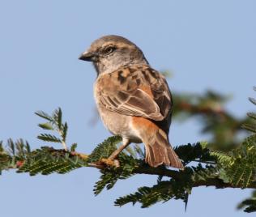
M 110 73 L 121 66 L 148 64 L 141 49 L 122 36 L 100 37 L 79 59 L 93 62 L 97 74 Z

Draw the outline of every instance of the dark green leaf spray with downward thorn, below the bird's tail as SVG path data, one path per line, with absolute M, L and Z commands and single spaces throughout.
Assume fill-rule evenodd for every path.
M 158 180 L 152 187 L 140 187 L 134 194 L 128 194 L 118 198 L 115 201 L 116 206 L 123 206 L 131 202 L 142 204 L 142 208 L 154 205 L 156 202 L 167 202 L 170 199 L 181 199 L 187 204 L 189 194 L 195 182 L 207 181 L 209 178 L 215 178 L 216 169 L 212 166 L 203 168 L 202 164 L 197 167 L 185 168 L 179 172 L 179 178 L 171 178 L 169 181 Z

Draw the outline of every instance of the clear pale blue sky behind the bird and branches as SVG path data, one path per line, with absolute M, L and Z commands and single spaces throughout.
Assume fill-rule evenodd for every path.
M 89 153 L 109 136 L 91 127 L 93 67 L 78 56 L 99 36 L 134 41 L 157 70 L 173 70 L 174 91 L 207 88 L 233 94 L 227 108 L 239 117 L 254 110 L 247 100 L 256 85 L 256 1 L 0 1 L 0 138 L 26 138 L 32 147 L 41 121 L 36 110 L 62 107 L 69 142 Z M 207 139 L 198 121 L 173 122 L 173 144 Z M 0 177 L 0 215 L 14 216 L 244 216 L 235 206 L 250 190 L 193 189 L 185 213 L 181 201 L 149 209 L 113 206 L 118 196 L 156 178 L 136 176 L 94 197 L 99 177 L 93 168 L 67 175 Z

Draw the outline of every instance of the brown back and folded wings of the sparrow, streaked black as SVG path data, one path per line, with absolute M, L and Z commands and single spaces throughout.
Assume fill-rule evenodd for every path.
M 100 75 L 96 92 L 106 109 L 155 121 L 167 117 L 172 106 L 164 76 L 148 66 L 126 67 Z

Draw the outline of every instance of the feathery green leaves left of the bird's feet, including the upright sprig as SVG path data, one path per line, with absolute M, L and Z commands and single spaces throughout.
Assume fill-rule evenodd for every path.
M 62 123 L 62 110 L 55 110 L 52 116 L 44 112 L 36 114 L 49 121 L 39 125 L 42 129 L 52 130 L 59 134 L 59 137 L 53 134 L 40 134 L 38 138 L 45 142 L 66 145 L 67 124 Z M 23 139 L 16 142 L 9 139 L 6 149 L 0 143 L 0 171 L 16 168 L 17 172 L 29 172 L 31 176 L 34 176 L 36 174 L 49 175 L 53 172 L 62 174 L 87 166 L 87 160 L 75 153 L 75 147 L 76 144 L 71 146 L 71 152 L 53 147 L 41 147 L 31 151 L 30 145 Z

